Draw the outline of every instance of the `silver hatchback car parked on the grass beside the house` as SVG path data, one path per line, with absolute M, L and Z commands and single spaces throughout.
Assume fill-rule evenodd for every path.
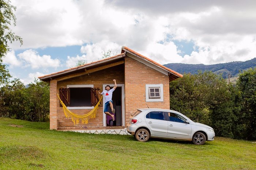
M 210 126 L 193 122 L 180 112 L 160 108 L 137 109 L 129 118 L 127 131 L 141 142 L 152 137 L 203 145 L 206 141 L 214 141 L 215 137 Z

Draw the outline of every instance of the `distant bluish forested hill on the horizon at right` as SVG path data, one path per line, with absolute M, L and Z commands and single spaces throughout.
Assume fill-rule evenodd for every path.
M 230 62 L 212 65 L 169 63 L 163 66 L 177 71 L 180 74 L 183 74 L 184 72 L 196 74 L 198 70 L 212 71 L 216 74 L 222 73 L 222 77 L 226 79 L 228 78 L 229 74 L 231 75 L 231 77 L 237 77 L 239 71 L 248 70 L 251 67 L 256 67 L 256 58 L 248 60 L 246 62 Z

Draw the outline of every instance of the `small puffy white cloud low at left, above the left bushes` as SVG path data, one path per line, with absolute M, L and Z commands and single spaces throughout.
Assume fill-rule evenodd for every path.
M 23 61 L 24 67 L 35 69 L 60 66 L 59 59 L 52 59 L 49 55 L 40 56 L 37 51 L 31 49 L 18 54 L 18 56 Z

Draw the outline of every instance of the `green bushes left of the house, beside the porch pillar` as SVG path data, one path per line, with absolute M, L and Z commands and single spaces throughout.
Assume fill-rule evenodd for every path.
M 45 122 L 49 120 L 49 84 L 35 80 L 27 87 L 15 79 L 0 88 L 0 116 Z

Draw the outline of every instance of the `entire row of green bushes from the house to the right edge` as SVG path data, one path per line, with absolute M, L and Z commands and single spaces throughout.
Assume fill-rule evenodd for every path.
M 215 134 L 256 139 L 256 69 L 242 73 L 237 86 L 211 71 L 184 74 L 170 82 L 170 109 L 213 127 Z

